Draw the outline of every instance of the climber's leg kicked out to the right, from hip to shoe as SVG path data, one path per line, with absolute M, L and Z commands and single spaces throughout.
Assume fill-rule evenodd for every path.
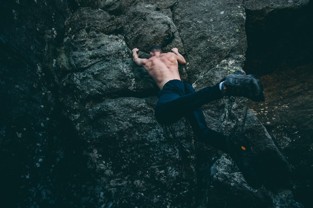
M 204 104 L 220 99 L 223 96 L 242 96 L 253 101 L 264 101 L 261 82 L 252 75 L 236 71 L 227 75 L 220 84 L 205 87 L 197 92 L 185 94 L 185 87 L 180 80 L 171 80 L 159 92 L 155 116 L 157 121 L 170 124 L 178 121 L 184 113 L 195 111 Z M 177 87 L 178 86 L 178 87 Z

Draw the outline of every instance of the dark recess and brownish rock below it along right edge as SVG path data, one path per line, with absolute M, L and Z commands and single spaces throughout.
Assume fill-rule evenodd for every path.
M 248 50 L 244 66 L 246 72 L 260 77 L 267 94 L 265 103 L 249 103 L 249 108 L 291 163 L 294 195 L 305 207 L 310 206 L 305 196 L 312 193 L 312 189 L 308 188 L 312 186 L 312 181 L 307 178 L 312 169 L 306 164 L 313 158 L 310 148 L 305 148 L 311 145 L 305 141 L 309 141 L 312 135 L 308 90 L 311 84 L 304 77 L 310 76 L 308 70 L 312 67 L 309 54 L 313 34 L 307 28 L 313 23 L 309 12 L 313 4 L 307 2 L 303 1 L 301 8 L 264 8 L 268 10 L 268 15 L 263 19 L 249 6 L 246 22 Z M 302 108 L 306 109 L 306 113 L 300 116 Z M 300 130 L 303 127 L 305 130 Z M 299 151 L 305 159 L 291 159 L 298 157 L 295 152 Z M 305 172 L 301 182 L 298 180 L 300 172 Z M 273 200 L 278 200 L 275 197 Z

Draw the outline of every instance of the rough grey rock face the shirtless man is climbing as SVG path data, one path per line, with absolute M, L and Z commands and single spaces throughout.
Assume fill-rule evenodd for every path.
M 156 122 L 158 89 L 132 61 L 131 49 L 139 48 L 139 56 L 148 58 L 151 44 L 162 45 L 164 52 L 177 47 L 187 61 L 179 67 L 182 79 L 199 90 L 235 70 L 243 71 L 249 47 L 246 12 L 251 23 L 308 4 L 300 0 L 4 2 L 0 156 L 5 203 L 302 207 L 302 201 L 294 198 L 299 193 L 290 166 L 297 160 L 285 158 L 284 145 L 277 142 L 288 132 L 268 132 L 265 114 L 249 110 L 244 98 L 225 97 L 203 106 L 212 129 L 225 135 L 244 132 L 261 158 L 263 185 L 249 186 L 232 158 L 199 142 L 188 121 L 182 118 L 170 126 Z M 267 105 L 277 97 L 270 98 Z M 299 178 L 297 182 L 305 184 Z

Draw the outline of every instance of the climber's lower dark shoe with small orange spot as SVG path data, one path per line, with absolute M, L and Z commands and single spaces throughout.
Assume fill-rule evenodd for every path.
M 259 187 L 260 179 L 254 168 L 258 163 L 258 158 L 251 150 L 247 137 L 240 132 L 233 132 L 227 137 L 226 145 L 228 153 L 237 163 L 249 185 L 254 188 Z

